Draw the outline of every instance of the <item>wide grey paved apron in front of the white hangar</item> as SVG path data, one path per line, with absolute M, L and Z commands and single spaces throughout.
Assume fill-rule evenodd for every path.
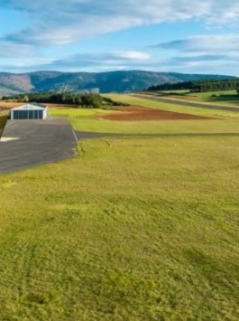
M 64 118 L 8 120 L 0 140 L 0 174 L 77 155 L 77 137 Z

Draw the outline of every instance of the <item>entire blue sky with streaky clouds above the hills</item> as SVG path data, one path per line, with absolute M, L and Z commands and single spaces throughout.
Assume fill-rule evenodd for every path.
M 0 71 L 239 77 L 238 0 L 1 0 Z

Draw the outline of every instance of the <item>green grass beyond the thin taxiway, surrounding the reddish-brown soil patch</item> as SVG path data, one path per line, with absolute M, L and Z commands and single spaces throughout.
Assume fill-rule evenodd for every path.
M 51 115 L 66 117 L 76 130 L 103 133 L 138 134 L 180 134 L 180 133 L 238 133 L 238 112 L 198 109 L 174 104 L 161 103 L 148 99 L 139 99 L 127 95 L 108 95 L 112 99 L 136 106 L 151 107 L 207 116 L 207 120 L 170 120 L 170 121 L 111 121 L 101 118 L 109 113 L 102 109 L 51 109 Z M 110 113 L 121 111 L 111 110 Z

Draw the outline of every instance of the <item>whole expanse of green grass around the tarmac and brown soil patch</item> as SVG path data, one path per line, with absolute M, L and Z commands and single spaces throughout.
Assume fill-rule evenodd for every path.
M 210 119 L 51 109 L 122 136 L 0 175 L 1 320 L 239 319 L 238 114 L 135 105 Z

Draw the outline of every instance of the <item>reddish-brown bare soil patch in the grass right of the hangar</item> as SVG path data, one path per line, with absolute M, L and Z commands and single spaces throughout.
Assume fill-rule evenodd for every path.
M 177 120 L 177 119 L 211 119 L 204 116 L 195 116 L 161 109 L 151 109 L 147 107 L 131 106 L 119 109 L 117 114 L 109 113 L 100 118 L 109 120 Z

